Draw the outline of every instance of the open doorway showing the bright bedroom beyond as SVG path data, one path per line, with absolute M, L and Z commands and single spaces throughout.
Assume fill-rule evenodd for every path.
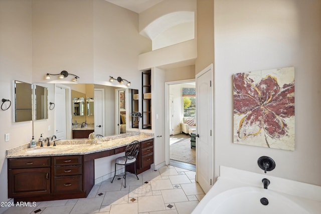
M 195 87 L 194 79 L 165 83 L 165 115 L 167 121 L 165 125 L 165 136 L 167 136 L 165 138 L 166 164 L 194 171 L 196 170 L 196 148 L 194 144 L 191 146 L 191 133 L 196 131 Z M 185 96 L 184 91 L 186 90 L 194 91 L 194 93 L 190 94 L 193 104 L 189 97 Z M 190 103 L 185 102 L 186 100 L 189 100 Z M 182 128 L 183 120 L 186 122 L 185 118 L 191 119 L 194 122 L 191 126 L 185 124 L 186 127 Z

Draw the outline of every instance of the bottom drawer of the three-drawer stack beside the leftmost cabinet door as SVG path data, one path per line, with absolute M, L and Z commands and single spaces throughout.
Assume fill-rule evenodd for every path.
M 80 191 L 82 191 L 81 175 L 54 177 L 54 193 Z

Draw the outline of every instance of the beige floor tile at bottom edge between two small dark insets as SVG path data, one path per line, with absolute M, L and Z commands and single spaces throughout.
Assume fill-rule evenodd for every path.
M 138 197 L 138 212 L 165 210 L 162 195 Z

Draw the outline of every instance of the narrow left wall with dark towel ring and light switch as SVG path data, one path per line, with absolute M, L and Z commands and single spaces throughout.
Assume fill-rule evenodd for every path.
M 6 150 L 27 143 L 32 138 L 31 121 L 13 122 L 13 82 L 32 82 L 31 34 L 31 1 L 0 1 L 0 99 L 12 101 L 7 111 L 0 110 L 0 201 L 8 200 Z M 5 142 L 6 133 L 10 133 L 9 142 Z M 3 208 L 0 208 L 1 213 Z

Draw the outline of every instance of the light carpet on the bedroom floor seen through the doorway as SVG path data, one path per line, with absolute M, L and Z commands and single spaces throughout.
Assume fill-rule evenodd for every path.
M 191 138 L 170 145 L 170 159 L 195 164 L 195 148 L 191 148 Z

